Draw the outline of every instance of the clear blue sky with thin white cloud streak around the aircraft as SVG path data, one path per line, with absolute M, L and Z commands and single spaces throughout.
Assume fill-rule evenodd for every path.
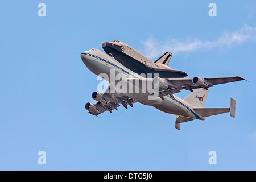
M 255 1 L 1 1 L 0 169 L 255 170 L 255 9 Z M 249 80 L 210 89 L 205 107 L 229 107 L 232 97 L 236 118 L 179 131 L 174 115 L 142 104 L 87 114 L 99 81 L 80 53 L 116 39 L 153 61 L 172 52 L 169 66 L 189 78 Z M 42 150 L 46 165 L 38 164 Z

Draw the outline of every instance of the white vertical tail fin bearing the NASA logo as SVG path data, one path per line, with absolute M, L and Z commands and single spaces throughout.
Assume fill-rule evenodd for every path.
M 193 93 L 185 97 L 184 101 L 193 106 L 194 108 L 204 108 L 208 93 L 209 88 L 208 90 L 204 88 L 196 89 Z

